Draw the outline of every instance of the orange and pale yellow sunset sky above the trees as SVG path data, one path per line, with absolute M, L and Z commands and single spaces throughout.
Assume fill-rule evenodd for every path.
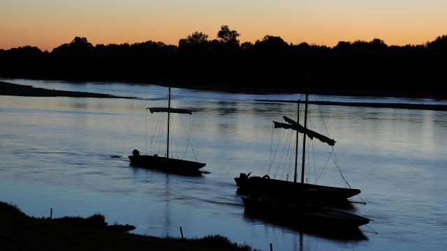
M 228 24 L 254 42 L 336 45 L 381 38 L 422 44 L 447 34 L 447 0 L 0 0 L 0 48 L 51 51 L 75 36 L 98 43 L 177 45 L 193 31 L 215 38 Z

